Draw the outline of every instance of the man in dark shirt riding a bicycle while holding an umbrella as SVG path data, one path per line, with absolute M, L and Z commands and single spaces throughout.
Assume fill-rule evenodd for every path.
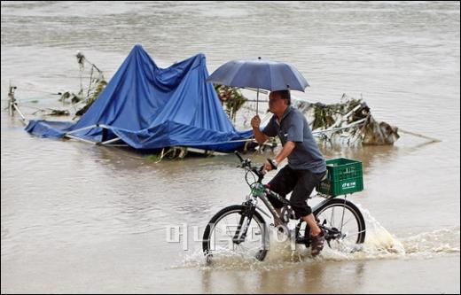
M 290 205 L 293 208 L 296 218 L 306 221 L 311 229 L 312 256 L 318 255 L 324 248 L 324 233 L 316 223 L 307 199 L 316 185 L 321 182 L 326 173 L 324 156 L 319 151 L 308 120 L 297 109 L 291 105 L 289 90 L 278 90 L 270 92 L 269 108 L 274 115 L 268 125 L 260 129 L 261 119 L 258 115 L 251 120 L 254 137 L 259 144 L 263 144 L 268 137 L 278 136 L 283 149 L 278 152 L 275 159 L 264 164 L 265 170 L 272 170 L 272 165 L 277 167 L 285 158 L 288 158 L 288 165 L 283 167 L 277 175 L 269 182 L 270 190 L 276 191 L 285 197 L 293 190 L 290 198 Z M 277 199 L 271 199 L 270 203 L 280 215 L 283 204 Z M 278 226 L 274 222 L 275 226 Z

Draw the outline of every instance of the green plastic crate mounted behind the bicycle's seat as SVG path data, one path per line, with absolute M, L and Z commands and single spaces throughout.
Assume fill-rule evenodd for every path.
M 362 162 L 355 159 L 327 159 L 326 180 L 316 190 L 331 196 L 346 195 L 363 190 Z

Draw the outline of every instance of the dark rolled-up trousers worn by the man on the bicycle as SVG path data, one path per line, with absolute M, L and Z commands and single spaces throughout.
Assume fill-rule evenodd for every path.
M 322 180 L 326 172 L 312 173 L 309 170 L 294 170 L 288 165 L 283 167 L 277 175 L 269 182 L 270 190 L 274 190 L 282 197 L 286 197 L 293 190 L 290 198 L 296 218 L 301 218 L 312 213 L 306 200 L 312 193 L 312 190 Z M 269 198 L 270 203 L 275 208 L 281 208 L 283 204 L 274 198 Z

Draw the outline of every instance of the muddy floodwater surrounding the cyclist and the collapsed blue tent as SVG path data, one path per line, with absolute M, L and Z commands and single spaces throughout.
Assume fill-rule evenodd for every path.
M 3 2 L 2 293 L 458 293 L 459 17 L 459 3 L 438 2 Z M 322 148 L 363 162 L 365 188 L 350 197 L 363 252 L 296 262 L 273 245 L 264 262 L 209 267 L 207 221 L 248 193 L 235 156 L 155 163 L 30 136 L 4 110 L 10 81 L 33 118 L 60 106 L 51 93 L 78 91 L 76 50 L 108 80 L 135 43 L 164 67 L 203 52 L 210 73 L 235 58 L 287 61 L 311 85 L 295 96 L 363 96 L 375 119 L 441 143 L 401 134 L 394 146 Z

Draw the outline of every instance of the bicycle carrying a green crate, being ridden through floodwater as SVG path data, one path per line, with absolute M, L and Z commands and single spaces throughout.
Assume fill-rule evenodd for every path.
M 268 185 L 262 184 L 265 175 L 263 166 L 259 168 L 254 167 L 250 159 L 242 159 L 238 151 L 235 154 L 240 160 L 238 167 L 246 170 L 245 179 L 246 183 L 250 186 L 251 192 L 246 196 L 246 201 L 241 205 L 223 208 L 218 213 L 215 213 L 208 222 L 202 240 L 202 248 L 207 262 L 211 262 L 217 254 L 226 255 L 228 253 L 250 255 L 250 257 L 254 257 L 257 260 L 264 260 L 270 248 L 270 232 L 262 214 L 273 218 L 280 225 L 278 227 L 279 231 L 284 232 L 288 237 L 294 237 L 296 244 L 305 245 L 309 248 L 311 244 L 309 225 L 300 219 L 294 230 L 288 229 L 289 221 L 296 220 L 295 214 L 286 198 L 270 190 Z M 327 164 L 329 161 L 331 162 L 331 160 L 327 160 Z M 333 159 L 333 161 L 336 162 L 333 162 L 334 165 L 332 166 L 341 167 L 338 159 Z M 269 162 L 271 163 L 271 161 Z M 356 173 L 354 167 L 350 167 L 349 164 L 342 166 L 345 167 L 341 171 L 342 175 L 340 176 L 342 178 L 345 175 L 350 175 L 351 172 Z M 273 168 L 276 169 L 277 167 Z M 361 168 L 360 163 L 359 180 L 362 179 Z M 254 182 L 248 181 L 249 174 L 255 176 Z M 345 182 L 344 179 L 340 179 L 339 183 L 333 182 L 333 178 L 337 179 L 338 174 L 330 175 L 330 167 L 328 167 L 327 175 L 329 176 L 326 179 L 324 178 L 317 187 L 317 191 L 324 190 L 327 193 L 318 192 L 316 195 L 325 199 L 316 206 L 313 206 L 312 212 L 316 217 L 319 227 L 324 230 L 324 239 L 330 248 L 354 252 L 357 250 L 356 246 L 364 242 L 366 233 L 365 222 L 360 210 L 346 199 L 347 193 L 344 192 L 358 191 L 361 188 L 352 190 L 348 190 L 348 188 L 341 190 L 340 188 L 338 190 L 338 184 L 343 187 L 351 187 L 352 185 L 349 185 L 349 183 L 356 185 L 356 178 L 354 182 Z M 335 198 L 342 194 L 345 195 L 345 198 Z M 269 198 L 277 198 L 284 204 L 280 215 L 270 204 Z M 272 216 L 258 206 L 258 200 L 262 200 L 262 203 L 267 206 Z

